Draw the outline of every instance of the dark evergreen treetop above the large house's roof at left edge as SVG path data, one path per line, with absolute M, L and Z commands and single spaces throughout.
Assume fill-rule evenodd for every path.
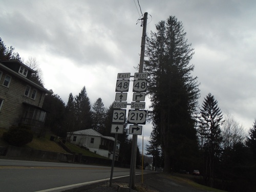
M 0 60 L 19 60 L 19 61 L 22 60 L 19 54 L 14 52 L 14 48 L 12 46 L 6 48 L 4 41 L 2 40 L 1 37 L 0 37 Z

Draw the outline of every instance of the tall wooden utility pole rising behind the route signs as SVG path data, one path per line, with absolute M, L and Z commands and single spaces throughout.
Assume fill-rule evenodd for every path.
M 139 73 L 143 73 L 145 44 L 146 44 L 146 23 L 147 23 L 147 12 L 144 13 L 143 24 L 142 24 L 143 25 L 143 30 L 142 30 L 142 37 L 141 37 L 141 51 L 140 51 Z M 131 169 L 130 170 L 130 192 L 131 192 L 131 188 L 135 188 L 135 169 L 136 169 L 136 156 L 137 156 L 137 141 L 138 141 L 138 136 L 137 135 L 133 135 L 133 142 L 132 142 L 133 146 L 132 146 L 132 157 L 131 157 L 131 168 L 130 168 Z

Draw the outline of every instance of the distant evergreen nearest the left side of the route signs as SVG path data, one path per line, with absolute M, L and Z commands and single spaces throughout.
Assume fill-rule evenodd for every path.
M 105 108 L 101 98 L 98 98 L 92 106 L 93 129 L 102 133 L 104 127 Z

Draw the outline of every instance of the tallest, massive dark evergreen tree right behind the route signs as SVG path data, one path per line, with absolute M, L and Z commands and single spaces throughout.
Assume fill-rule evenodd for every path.
M 164 171 L 179 168 L 179 143 L 184 143 L 182 154 L 193 154 L 189 146 L 197 148 L 195 112 L 198 105 L 199 89 L 197 77 L 191 72 L 194 65 L 189 61 L 194 52 L 187 44 L 182 23 L 175 16 L 156 25 L 157 32 L 147 38 L 145 72 L 148 72 L 148 94 L 153 108 L 153 124 L 159 130 L 164 153 Z M 185 142 L 189 141 L 189 142 Z M 176 158 L 176 159 L 175 159 Z

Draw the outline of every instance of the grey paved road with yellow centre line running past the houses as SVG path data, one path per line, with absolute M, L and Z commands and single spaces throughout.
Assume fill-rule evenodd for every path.
M 115 167 L 113 178 L 129 173 L 130 169 Z M 0 159 L 0 191 L 61 191 L 69 185 L 109 180 L 110 174 L 111 167 L 106 166 Z

